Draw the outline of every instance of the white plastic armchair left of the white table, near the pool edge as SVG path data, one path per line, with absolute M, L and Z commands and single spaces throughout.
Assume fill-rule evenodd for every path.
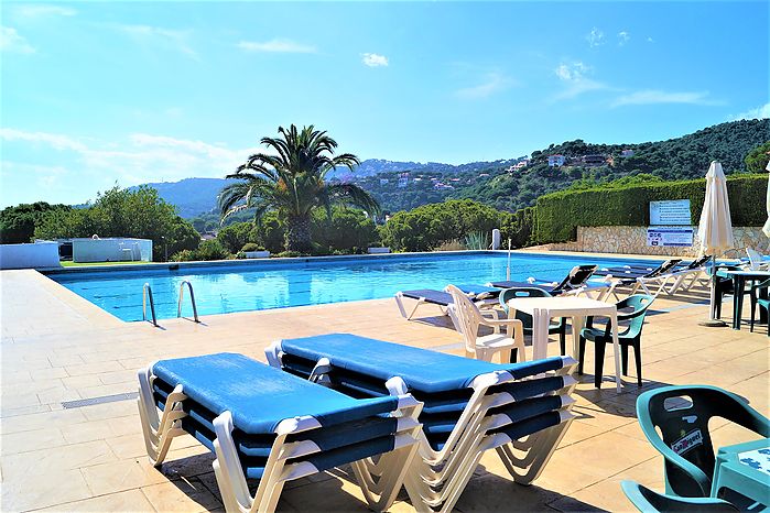
M 517 348 L 520 361 L 527 360 L 524 351 L 524 327 L 519 319 L 490 319 L 481 315 L 478 306 L 459 288 L 448 285 L 446 292 L 452 294 L 455 316 L 465 341 L 465 356 L 477 360 L 492 361 L 495 353 L 500 353 L 500 362 L 510 360 L 511 349 Z M 495 328 L 494 334 L 478 336 L 479 326 Z M 506 334 L 498 332 L 505 326 Z

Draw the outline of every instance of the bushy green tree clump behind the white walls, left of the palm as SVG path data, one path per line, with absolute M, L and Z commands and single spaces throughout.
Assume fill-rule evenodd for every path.
M 196 249 L 200 236 L 176 215 L 149 186 L 137 189 L 113 187 L 97 196 L 94 205 L 71 210 L 51 210 L 35 228 L 35 237 L 135 237 L 151 239 L 153 260 L 160 261 L 184 249 Z

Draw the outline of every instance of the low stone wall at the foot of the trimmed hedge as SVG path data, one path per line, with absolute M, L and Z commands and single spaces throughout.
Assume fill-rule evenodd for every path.
M 695 237 L 690 248 L 661 248 L 647 245 L 647 227 L 607 226 L 577 227 L 577 241 L 547 244 L 556 251 L 584 251 L 589 253 L 628 253 L 660 254 L 672 256 L 697 256 L 701 244 L 697 240 L 697 227 L 693 227 Z M 761 253 L 770 253 L 770 239 L 762 233 L 761 227 L 734 227 L 735 247 L 740 256 L 746 256 L 744 248 L 756 248 Z

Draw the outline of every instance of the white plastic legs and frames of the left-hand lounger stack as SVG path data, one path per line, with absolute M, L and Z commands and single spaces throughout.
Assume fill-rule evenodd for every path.
M 153 466 L 159 467 L 165 459 L 171 440 L 186 434 L 180 422 L 187 414 L 182 411 L 182 403 L 187 399 L 182 385 L 169 394 L 162 416 L 153 401 L 152 367 L 139 371 L 139 414 L 148 456 Z M 398 495 L 406 471 L 417 452 L 417 439 L 422 426 L 417 421 L 422 403 L 410 394 L 398 397 L 398 407 L 392 413 L 399 417 L 394 448 L 380 455 L 377 461 L 366 458 L 351 462 L 351 467 L 369 507 L 383 511 L 390 507 Z M 275 511 L 281 491 L 286 481 L 304 478 L 321 471 L 308 461 L 286 462 L 319 452 L 321 448 L 311 440 L 286 443 L 292 434 L 316 429 L 321 423 L 312 416 L 286 418 L 275 428 L 273 441 L 264 474 L 259 481 L 257 492 L 251 495 L 232 440 L 232 415 L 224 412 L 214 419 L 216 439 L 214 448 L 216 459 L 213 467 L 221 492 L 223 502 L 228 513 L 271 513 Z

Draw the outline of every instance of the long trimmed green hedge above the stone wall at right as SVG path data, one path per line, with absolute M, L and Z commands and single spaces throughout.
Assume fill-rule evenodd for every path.
M 767 174 L 740 174 L 727 178 L 733 226 L 762 226 Z M 575 240 L 577 227 L 648 226 L 650 201 L 690 199 L 693 225 L 701 219 L 706 181 L 653 183 L 621 188 L 562 190 L 538 198 L 533 241 Z

